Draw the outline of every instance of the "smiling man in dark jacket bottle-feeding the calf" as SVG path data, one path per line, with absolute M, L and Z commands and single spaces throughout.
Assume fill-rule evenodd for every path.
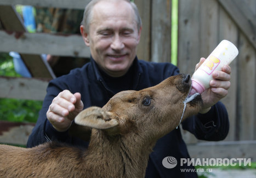
M 89 106 L 102 107 L 122 90 L 151 87 L 179 73 L 172 64 L 140 61 L 136 48 L 140 41 L 141 20 L 134 3 L 126 0 L 93 0 L 84 12 L 81 34 L 90 47 L 91 62 L 49 83 L 36 127 L 27 143 L 36 146 L 49 140 L 73 145 L 88 143 L 68 134 L 75 116 Z M 205 59 L 201 59 L 196 68 Z M 230 87 L 229 66 L 214 73 L 211 88 L 202 94 L 203 109 L 197 116 L 186 119 L 183 129 L 198 139 L 222 140 L 229 130 L 229 120 L 223 104 Z M 150 154 L 146 177 L 197 177 L 196 173 L 181 173 L 180 168 L 164 168 L 163 158 L 189 158 L 180 128 L 162 137 Z

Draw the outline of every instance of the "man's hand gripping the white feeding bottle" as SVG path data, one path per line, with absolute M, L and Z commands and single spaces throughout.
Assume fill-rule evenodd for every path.
M 196 65 L 196 70 L 205 60 L 205 58 L 200 59 L 200 62 Z M 213 80 L 210 81 L 211 87 L 201 94 L 203 108 L 200 113 L 208 112 L 211 109 L 211 106 L 215 105 L 220 99 L 227 95 L 227 90 L 230 88 L 230 73 L 231 68 L 228 65 L 223 66 L 221 71 L 213 72 Z

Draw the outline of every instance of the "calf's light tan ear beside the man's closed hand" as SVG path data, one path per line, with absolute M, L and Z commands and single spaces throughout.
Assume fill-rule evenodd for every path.
M 118 122 L 116 116 L 111 112 L 103 111 L 100 107 L 88 107 L 80 112 L 76 118 L 75 123 L 95 129 L 116 130 Z

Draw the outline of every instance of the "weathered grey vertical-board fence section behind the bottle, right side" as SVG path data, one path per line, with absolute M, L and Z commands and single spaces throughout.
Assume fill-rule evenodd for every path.
M 232 62 L 231 88 L 223 99 L 230 116 L 226 140 L 256 140 L 256 1 L 179 1 L 179 61 L 192 73 L 198 58 L 208 56 L 222 40 L 239 55 Z

